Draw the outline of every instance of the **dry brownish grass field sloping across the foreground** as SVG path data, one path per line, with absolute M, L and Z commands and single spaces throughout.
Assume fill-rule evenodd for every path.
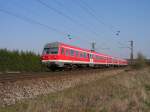
M 115 76 L 0 108 L 0 112 L 149 111 L 149 68 L 123 71 Z

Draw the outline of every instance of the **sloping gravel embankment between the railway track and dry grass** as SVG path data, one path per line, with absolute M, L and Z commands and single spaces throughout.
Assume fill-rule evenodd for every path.
M 55 93 L 80 84 L 87 84 L 92 81 L 115 76 L 123 71 L 124 69 L 68 71 L 54 73 L 54 75 L 47 73 L 46 77 L 41 77 L 38 74 L 39 77 L 36 78 L 6 80 L 6 82 L 0 82 L 0 105 L 12 105 L 20 100 Z

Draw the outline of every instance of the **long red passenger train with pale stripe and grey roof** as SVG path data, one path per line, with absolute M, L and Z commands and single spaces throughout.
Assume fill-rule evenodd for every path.
M 44 46 L 41 56 L 42 63 L 48 68 L 62 67 L 100 67 L 126 66 L 127 60 L 98 53 L 88 49 L 67 45 L 61 42 L 48 43 Z

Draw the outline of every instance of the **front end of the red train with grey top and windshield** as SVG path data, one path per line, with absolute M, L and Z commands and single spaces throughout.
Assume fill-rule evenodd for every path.
M 43 64 L 46 64 L 48 68 L 55 69 L 58 67 L 59 59 L 59 43 L 53 42 L 48 43 L 44 46 L 43 53 L 41 56 L 41 61 Z

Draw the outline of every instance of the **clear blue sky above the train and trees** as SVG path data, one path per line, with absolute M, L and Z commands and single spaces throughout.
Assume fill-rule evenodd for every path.
M 150 0 L 0 0 L 0 48 L 41 54 L 50 42 L 95 42 L 98 52 L 129 58 L 133 40 L 135 57 L 150 58 L 149 12 Z

